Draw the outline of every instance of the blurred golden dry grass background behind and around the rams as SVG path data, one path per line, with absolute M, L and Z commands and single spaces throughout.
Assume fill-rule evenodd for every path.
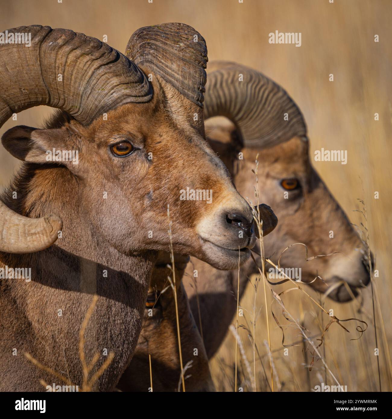
M 317 163 L 315 166 L 352 222 L 358 224 L 361 220 L 359 213 L 352 212 L 358 208 L 356 199 L 366 201 L 370 245 L 379 270 L 376 282 L 388 339 L 391 339 L 390 1 L 335 0 L 331 4 L 329 0 L 244 0 L 244 3 L 238 0 L 153 0 L 151 4 L 148 0 L 63 0 L 63 3 L 1 0 L 1 11 L 2 31 L 42 24 L 70 28 L 98 39 L 106 34 L 108 44 L 121 52 L 133 31 L 141 26 L 171 21 L 187 23 L 205 37 L 210 61 L 240 62 L 283 85 L 305 116 L 311 153 L 321 147 L 348 150 L 347 165 Z M 268 34 L 275 30 L 301 32 L 301 47 L 269 44 Z M 378 43 L 374 42 L 375 34 L 379 35 Z M 334 74 L 333 83 L 328 80 L 330 73 Z M 17 122 L 8 121 L 0 129 L 0 135 L 16 124 L 40 126 L 48 112 L 49 108 L 42 106 L 24 111 L 18 114 Z M 374 121 L 375 113 L 379 114 L 379 121 Z M 18 161 L 1 146 L 0 184 L 7 184 L 17 167 Z M 379 199 L 374 199 L 374 191 L 379 191 Z M 252 292 L 249 287 L 241 301 L 248 310 L 252 306 Z M 365 313 L 356 313 L 356 317 L 370 324 L 371 316 L 369 319 L 366 315 L 371 314 L 370 288 L 363 292 L 363 297 Z M 284 301 L 288 311 L 304 321 L 310 334 L 319 333 L 321 315 L 307 297 L 296 291 L 285 296 Z M 267 339 L 263 304 L 262 287 L 259 287 L 257 308 L 262 307 L 262 314 L 257 323 L 256 341 L 268 376 L 268 358 L 263 344 Z M 353 317 L 358 301 L 339 305 L 327 300 L 325 307 L 333 308 L 339 318 Z M 246 320 L 249 323 L 249 316 L 241 322 L 246 323 Z M 328 322 L 326 316 L 323 322 L 324 325 Z M 331 326 L 325 340 L 326 361 L 340 383 L 348 385 L 348 391 L 375 391 L 378 378 L 373 354 L 374 329 L 370 325 L 362 339 L 350 341 L 350 338 L 358 337 L 355 326 L 355 323 L 348 324 L 352 336 L 336 324 Z M 275 383 L 275 389 L 309 391 L 320 380 L 325 382 L 321 361 L 309 372 L 304 367 L 309 362 L 309 353 L 305 360 L 302 346 L 291 347 L 289 355 L 283 355 L 281 332 L 273 321 L 270 327 L 276 378 L 280 383 Z M 299 332 L 294 328 L 288 328 L 286 334 L 288 342 L 299 340 Z M 243 330 L 241 338 L 253 370 L 252 348 Z M 232 389 L 234 344 L 234 337 L 229 334 L 211 362 L 215 384 L 220 390 Z M 385 348 L 380 351 L 383 390 L 390 390 L 385 373 L 385 352 L 382 353 Z M 265 390 L 260 361 L 257 361 L 257 371 L 258 390 Z M 329 377 L 327 380 L 331 384 Z

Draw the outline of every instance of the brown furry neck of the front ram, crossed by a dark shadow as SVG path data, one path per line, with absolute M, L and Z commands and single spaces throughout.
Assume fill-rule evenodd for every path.
M 91 376 L 114 352 L 114 360 L 94 385 L 96 390 L 110 390 L 137 344 L 156 254 L 125 256 L 95 237 L 78 205 L 75 181 L 70 180 L 61 191 L 56 182 L 47 190 L 31 189 L 29 185 L 31 177 L 25 173 L 2 199 L 23 215 L 58 213 L 64 228 L 62 238 L 44 251 L 0 253 L 0 267 L 31 269 L 31 281 L 1 280 L 1 346 L 17 346 L 20 356 L 8 362 L 8 352 L 0 349 L 5 376 L 10 377 L 9 382 L 0 384 L 0 389 L 4 386 L 15 391 L 42 391 L 41 379 L 57 383 L 58 378 L 39 370 L 23 357 L 23 352 L 52 370 L 67 371 L 70 380 L 82 386 L 80 328 L 93 295 L 98 295 L 83 349 L 87 362 L 99 354 Z M 18 199 L 12 199 L 12 191 L 17 192 Z

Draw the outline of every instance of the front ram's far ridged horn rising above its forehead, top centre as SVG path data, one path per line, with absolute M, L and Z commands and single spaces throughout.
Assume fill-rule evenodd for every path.
M 163 23 L 135 31 L 125 50 L 136 65 L 146 67 L 197 106 L 204 101 L 207 46 L 192 26 Z

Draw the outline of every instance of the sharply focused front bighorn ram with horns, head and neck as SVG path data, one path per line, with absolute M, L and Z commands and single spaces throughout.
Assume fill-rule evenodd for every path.
M 24 163 L 3 194 L 7 206 L 0 204 L 0 264 L 31 268 L 31 281 L 1 280 L 0 388 L 56 383 L 24 352 L 80 385 L 101 373 L 113 351 L 90 382 L 110 390 L 138 341 L 157 251 L 169 250 L 168 204 L 176 252 L 234 269 L 238 249 L 243 262 L 254 244 L 249 205 L 203 138 L 205 41 L 179 23 L 142 28 L 128 44 L 130 61 L 70 30 L 11 32 L 31 32 L 31 47 L 0 45 L 0 127 L 31 106 L 63 113 L 46 129 L 19 126 L 2 138 Z M 48 162 L 53 148 L 78 150 L 78 164 Z M 212 204 L 180 200 L 187 186 L 212 189 Z M 50 246 L 61 220 L 62 237 Z M 86 376 L 79 332 L 93 294 L 87 365 L 99 357 Z

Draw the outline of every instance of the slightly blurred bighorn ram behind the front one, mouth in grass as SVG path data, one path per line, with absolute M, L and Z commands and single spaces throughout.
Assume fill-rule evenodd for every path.
M 239 73 L 244 81 L 239 82 Z M 288 114 L 288 121 L 283 119 Z M 231 63 L 210 65 L 204 118 L 223 115 L 234 124 L 206 123 L 210 146 L 220 156 L 243 197 L 254 201 L 252 169 L 259 155 L 260 201 L 273 207 L 280 220 L 264 240 L 265 256 L 277 263 L 293 243 L 304 243 L 309 256 L 340 252 L 305 262 L 303 246 L 283 253 L 280 265 L 301 268 L 301 280 L 339 302 L 351 299 L 369 283 L 368 252 L 312 167 L 309 140 L 301 111 L 279 85 L 260 72 Z M 238 153 L 243 153 L 242 160 Z M 333 164 L 333 163 L 332 163 Z M 285 197 L 287 199 L 285 199 Z M 330 238 L 330 231 L 334 236 Z M 260 252 L 257 245 L 255 250 Z M 237 271 L 222 272 L 192 259 L 187 272 L 197 269 L 202 331 L 208 357 L 218 350 L 236 311 Z M 266 269 L 270 266 L 266 264 Z M 268 271 L 267 271 L 268 272 Z M 240 297 L 247 278 L 259 271 L 252 260 L 241 268 Z M 272 279 L 273 282 L 276 280 Z M 192 312 L 199 326 L 197 299 L 192 281 L 184 281 Z

